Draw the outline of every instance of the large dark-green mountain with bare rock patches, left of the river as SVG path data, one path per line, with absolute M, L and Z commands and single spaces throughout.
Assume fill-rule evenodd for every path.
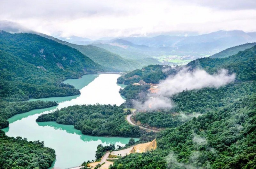
M 30 33 L 1 31 L 0 58 L 0 94 L 9 101 L 77 95 L 61 82 L 103 71 L 78 50 Z

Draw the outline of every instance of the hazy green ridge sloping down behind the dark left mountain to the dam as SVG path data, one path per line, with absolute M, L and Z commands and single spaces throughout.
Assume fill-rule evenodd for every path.
M 129 57 L 122 58 L 118 54 L 109 52 L 100 47 L 95 47 L 92 45 L 84 46 L 84 45 L 72 44 L 67 41 L 64 41 L 64 40 L 68 40 L 68 39 L 60 40 L 60 39 L 54 38 L 52 36 L 49 36 L 49 35 L 46 35 L 46 34 L 43 34 L 40 32 L 35 32 L 35 31 L 29 30 L 28 28 L 25 28 L 15 22 L 0 21 L 0 30 L 4 30 L 7 32 L 12 30 L 13 33 L 29 32 L 29 33 L 40 35 L 40 36 L 48 38 L 48 39 L 52 39 L 52 40 L 57 41 L 64 45 L 71 46 L 71 47 L 79 50 L 84 55 L 88 56 L 90 59 L 92 59 L 96 63 L 99 63 L 105 69 L 105 71 L 114 71 L 114 72 L 123 72 L 123 71 L 128 71 L 128 70 L 130 71 L 130 70 L 134 70 L 136 68 L 142 68 L 143 66 L 147 66 L 150 64 L 159 64 L 160 63 L 153 58 L 148 58 L 148 59 L 144 59 L 144 57 L 143 58 L 141 58 L 141 57 L 140 58 L 132 58 L 132 57 L 131 58 L 129 58 Z M 84 40 L 87 40 L 87 41 L 84 41 Z M 87 42 L 92 43 L 91 39 L 81 38 L 81 37 L 76 37 L 76 36 L 71 36 L 69 41 L 71 41 L 71 42 L 83 41 L 83 43 L 85 43 L 85 44 L 87 44 Z M 81 43 L 81 44 L 83 44 L 83 43 Z

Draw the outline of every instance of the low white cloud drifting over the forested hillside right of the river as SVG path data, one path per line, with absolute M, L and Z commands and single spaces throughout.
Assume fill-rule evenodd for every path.
M 208 74 L 204 70 L 197 69 L 189 71 L 188 68 L 180 70 L 176 75 L 167 77 L 159 83 L 159 92 L 148 95 L 148 100 L 144 103 L 134 102 L 134 107 L 138 110 L 155 110 L 172 108 L 173 103 L 170 96 L 184 90 L 194 90 L 201 88 L 219 88 L 235 80 L 235 74 L 228 74 L 225 69 L 217 74 Z

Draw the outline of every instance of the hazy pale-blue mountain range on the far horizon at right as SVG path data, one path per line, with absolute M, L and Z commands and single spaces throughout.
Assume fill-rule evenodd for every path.
M 122 38 L 137 45 L 165 48 L 164 50 L 175 50 L 178 52 L 204 52 L 216 53 L 231 46 L 237 46 L 248 42 L 254 42 L 256 37 L 253 32 L 243 31 L 217 31 L 197 36 L 168 36 L 156 37 L 127 37 Z M 163 50 L 163 49 L 162 49 Z

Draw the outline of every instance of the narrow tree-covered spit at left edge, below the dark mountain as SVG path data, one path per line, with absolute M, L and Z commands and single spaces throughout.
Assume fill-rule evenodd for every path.
M 57 102 L 44 102 L 44 101 L 35 101 L 35 102 L 0 102 L 0 129 L 9 126 L 8 118 L 25 113 L 33 109 L 43 109 L 52 106 L 57 106 Z

